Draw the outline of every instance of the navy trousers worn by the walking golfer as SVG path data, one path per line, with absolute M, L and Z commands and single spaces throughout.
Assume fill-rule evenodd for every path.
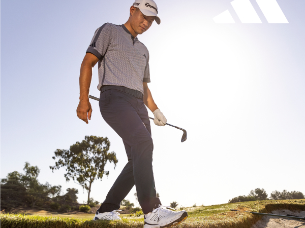
M 153 139 L 144 102 L 128 93 L 111 89 L 101 93 L 100 110 L 107 124 L 123 139 L 128 163 L 121 171 L 99 212 L 120 207 L 131 188 L 136 185 L 137 197 L 144 214 L 161 204 L 156 197 L 153 173 Z

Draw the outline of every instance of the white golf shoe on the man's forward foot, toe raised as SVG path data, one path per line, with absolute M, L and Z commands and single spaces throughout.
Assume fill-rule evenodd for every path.
M 159 205 L 158 208 L 154 209 L 153 212 L 144 215 L 144 228 L 163 228 L 171 227 L 181 223 L 188 217 L 186 211 L 172 211 L 166 207 Z M 173 209 L 174 210 L 174 209 Z

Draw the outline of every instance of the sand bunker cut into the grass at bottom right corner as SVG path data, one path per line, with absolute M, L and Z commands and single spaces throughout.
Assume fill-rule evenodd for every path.
M 270 214 L 280 215 L 293 215 L 299 217 L 305 217 L 305 211 L 290 211 L 290 210 L 276 210 Z M 289 219 L 273 216 L 263 216 L 261 220 L 256 222 L 251 228 L 305 228 L 305 220 Z

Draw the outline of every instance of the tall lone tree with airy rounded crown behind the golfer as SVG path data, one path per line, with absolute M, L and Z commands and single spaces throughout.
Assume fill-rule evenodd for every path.
M 85 136 L 82 142 L 76 142 L 70 149 L 57 149 L 53 157 L 55 166 L 50 166 L 52 172 L 60 167 L 65 167 L 66 181 L 77 180 L 78 183 L 88 191 L 88 200 L 92 183 L 95 179 L 102 179 L 103 175 L 109 175 L 109 171 L 104 171 L 106 163 L 114 163 L 114 168 L 118 162 L 115 153 L 108 153 L 110 141 L 107 137 Z

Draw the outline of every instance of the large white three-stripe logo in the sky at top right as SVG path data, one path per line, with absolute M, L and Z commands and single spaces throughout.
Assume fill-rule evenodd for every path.
M 288 24 L 282 9 L 280 8 L 277 0 L 255 0 L 267 19 L 268 23 L 277 23 L 277 24 Z M 258 14 L 256 13 L 253 5 L 250 0 L 234 0 L 231 2 L 231 5 L 236 12 L 241 23 L 262 23 Z M 215 23 L 228 24 L 235 23 L 232 15 L 229 10 L 219 14 L 213 18 Z

